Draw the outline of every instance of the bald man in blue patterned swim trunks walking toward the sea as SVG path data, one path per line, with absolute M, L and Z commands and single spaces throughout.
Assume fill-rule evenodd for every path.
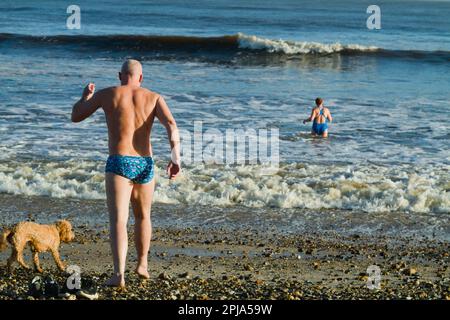
M 105 189 L 110 221 L 110 241 L 114 274 L 106 283 L 125 287 L 128 250 L 129 204 L 133 208 L 134 237 L 138 255 L 136 273 L 148 279 L 148 252 L 151 239 L 150 211 L 155 188 L 154 161 L 150 133 L 155 118 L 165 126 L 170 141 L 170 179 L 180 173 L 180 139 L 175 119 L 159 94 L 142 88 L 142 65 L 127 60 L 119 72 L 121 85 L 95 92 L 88 84 L 72 109 L 72 121 L 80 122 L 97 109 L 105 112 L 109 157 L 105 168 Z

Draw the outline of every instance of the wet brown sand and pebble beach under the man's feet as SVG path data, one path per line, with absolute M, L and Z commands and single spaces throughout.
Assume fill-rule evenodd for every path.
M 4 227 L 4 226 L 2 226 Z M 67 264 L 104 283 L 112 270 L 105 228 L 76 226 L 63 244 Z M 154 228 L 151 279 L 139 280 L 130 229 L 127 291 L 100 286 L 100 299 L 450 299 L 449 242 L 408 237 L 336 233 L 280 235 L 227 228 Z M 4 263 L 0 253 L 0 299 L 32 299 L 33 272 Z M 29 255 L 26 256 L 30 261 Z M 67 275 L 41 254 L 45 272 L 60 284 Z M 381 288 L 367 288 L 367 267 L 381 269 Z

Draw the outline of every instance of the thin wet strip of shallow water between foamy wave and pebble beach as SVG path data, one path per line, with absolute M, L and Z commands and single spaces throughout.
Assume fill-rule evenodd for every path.
M 105 200 L 52 198 L 0 193 L 0 225 L 23 220 L 54 223 L 67 219 L 74 226 L 108 227 Z M 152 222 L 161 228 L 252 229 L 276 235 L 333 234 L 374 237 L 402 234 L 417 239 L 450 242 L 450 215 L 412 212 L 363 212 L 338 209 L 292 209 L 153 203 Z M 133 215 L 130 209 L 130 223 Z

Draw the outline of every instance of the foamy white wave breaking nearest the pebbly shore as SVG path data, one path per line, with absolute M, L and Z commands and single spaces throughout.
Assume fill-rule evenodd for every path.
M 0 192 L 103 199 L 103 162 L 0 163 Z M 169 181 L 156 168 L 155 202 L 364 212 L 450 212 L 449 166 L 195 165 Z M 326 169 L 326 170 L 325 170 Z

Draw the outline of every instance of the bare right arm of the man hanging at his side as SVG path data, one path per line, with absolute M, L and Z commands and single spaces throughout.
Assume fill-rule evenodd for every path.
M 181 156 L 180 156 L 180 135 L 178 133 L 177 123 L 170 112 L 169 106 L 162 96 L 158 96 L 156 101 L 156 117 L 166 127 L 169 137 L 171 151 L 171 161 L 167 166 L 169 178 L 173 179 L 180 173 Z

